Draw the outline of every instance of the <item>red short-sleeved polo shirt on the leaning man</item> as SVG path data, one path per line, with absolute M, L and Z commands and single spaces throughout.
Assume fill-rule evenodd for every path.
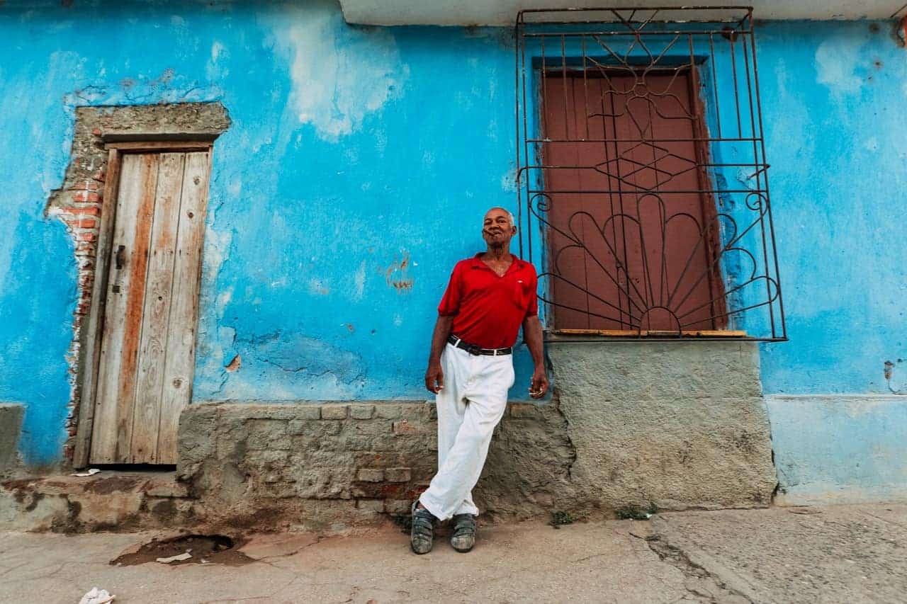
M 481 259 L 460 260 L 453 267 L 438 314 L 453 317 L 453 335 L 483 348 L 513 346 L 522 321 L 539 313 L 535 268 L 512 256 L 503 277 Z

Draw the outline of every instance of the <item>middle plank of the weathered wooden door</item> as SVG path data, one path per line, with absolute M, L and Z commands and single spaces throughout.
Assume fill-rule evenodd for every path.
M 128 463 L 156 463 L 161 392 L 173 289 L 173 259 L 180 222 L 183 153 L 161 153 L 151 223 L 148 280 L 141 318 L 135 410 Z M 124 460 L 125 461 L 125 460 Z

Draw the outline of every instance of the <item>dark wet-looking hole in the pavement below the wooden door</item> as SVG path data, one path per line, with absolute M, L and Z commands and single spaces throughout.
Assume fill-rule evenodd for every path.
M 158 558 L 170 558 L 181 553 L 189 552 L 189 560 L 168 562 L 170 566 L 184 564 L 226 564 L 228 566 L 242 566 L 255 560 L 237 548 L 242 545 L 226 535 L 182 535 L 158 541 L 151 540 L 132 553 L 124 553 L 111 560 L 113 566 L 135 566 L 146 562 L 157 562 Z M 202 562 L 204 560 L 204 562 Z

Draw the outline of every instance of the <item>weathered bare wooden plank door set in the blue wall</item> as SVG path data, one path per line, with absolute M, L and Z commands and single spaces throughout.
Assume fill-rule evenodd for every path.
M 176 463 L 189 404 L 210 151 L 122 155 L 91 463 Z

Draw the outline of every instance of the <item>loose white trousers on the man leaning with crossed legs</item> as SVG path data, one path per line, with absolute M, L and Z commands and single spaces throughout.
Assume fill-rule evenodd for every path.
M 475 356 L 451 344 L 441 353 L 444 388 L 436 395 L 438 473 L 419 501 L 436 518 L 477 515 L 473 487 L 479 482 L 494 426 L 507 408 L 513 357 Z

